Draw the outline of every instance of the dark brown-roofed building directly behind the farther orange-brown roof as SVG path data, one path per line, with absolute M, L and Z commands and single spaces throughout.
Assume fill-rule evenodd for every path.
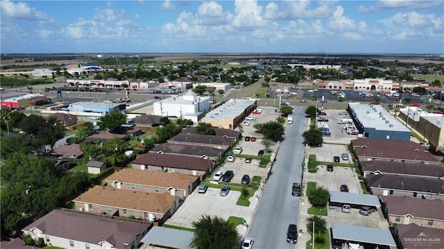
M 214 169 L 214 161 L 185 155 L 146 153 L 131 162 L 134 169 L 198 175 L 205 178 Z

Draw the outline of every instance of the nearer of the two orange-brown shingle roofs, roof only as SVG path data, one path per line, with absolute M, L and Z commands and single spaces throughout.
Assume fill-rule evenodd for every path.
M 105 207 L 119 207 L 121 209 L 137 210 L 139 212 L 153 212 L 165 214 L 171 209 L 175 200 L 171 194 L 154 194 L 129 189 L 114 189 L 113 187 L 95 186 L 73 201 L 78 203 L 92 203 Z

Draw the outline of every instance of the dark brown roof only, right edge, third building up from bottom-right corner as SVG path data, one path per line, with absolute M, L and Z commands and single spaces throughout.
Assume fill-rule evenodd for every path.
M 443 180 L 403 175 L 367 175 L 369 187 L 444 194 Z

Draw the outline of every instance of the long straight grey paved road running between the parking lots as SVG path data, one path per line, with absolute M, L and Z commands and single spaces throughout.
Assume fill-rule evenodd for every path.
M 287 243 L 289 223 L 298 224 L 299 197 L 291 196 L 291 184 L 301 180 L 304 157 L 302 132 L 307 130 L 305 108 L 293 110 L 295 122 L 287 125 L 271 175 L 266 182 L 248 237 L 255 248 L 295 248 Z

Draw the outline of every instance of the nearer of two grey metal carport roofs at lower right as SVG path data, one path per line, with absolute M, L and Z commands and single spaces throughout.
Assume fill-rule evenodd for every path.
M 333 239 L 341 239 L 343 241 L 357 241 L 373 243 L 376 245 L 396 246 L 395 240 L 388 227 L 374 228 L 332 223 L 332 237 Z

